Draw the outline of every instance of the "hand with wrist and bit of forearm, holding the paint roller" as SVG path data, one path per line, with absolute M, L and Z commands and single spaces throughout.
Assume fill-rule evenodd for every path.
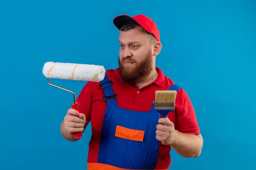
M 85 115 L 83 113 L 79 113 L 75 109 L 68 109 L 67 115 L 64 117 L 64 120 L 61 124 L 61 133 L 63 137 L 70 141 L 76 141 L 77 139 L 73 139 L 74 132 L 83 132 L 85 128 Z

